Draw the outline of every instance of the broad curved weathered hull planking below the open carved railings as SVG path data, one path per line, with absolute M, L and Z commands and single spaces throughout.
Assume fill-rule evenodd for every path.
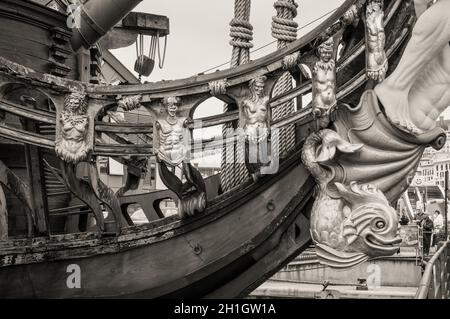
M 85 239 L 78 241 L 73 235 L 67 237 L 71 237 L 70 241 L 65 236 L 40 243 L 34 239 L 32 247 L 21 248 L 17 243 L 14 249 L 24 251 L 16 254 L 15 263 L 31 263 L 27 266 L 30 276 L 20 277 L 24 266 L 4 267 L 11 258 L 3 255 L 0 282 L 6 286 L 0 296 L 7 291 L 8 297 L 158 297 L 196 284 L 198 290 L 192 296 L 207 294 L 213 290 L 213 282 L 203 279 L 223 273 L 236 276 L 233 267 L 228 268 L 233 262 L 241 272 L 250 266 L 248 256 L 258 247 L 267 245 L 260 248 L 263 251 L 276 247 L 276 241 L 269 238 L 291 214 L 299 212 L 290 206 L 292 199 L 310 196 L 314 183 L 299 157 L 286 164 L 280 175 L 270 176 L 258 185 L 246 185 L 233 196 L 218 198 L 199 217 L 184 221 L 169 218 L 169 224 L 165 221 L 153 229 L 130 229 L 118 238 L 89 239 L 85 234 Z M 74 262 L 73 258 L 82 256 L 86 258 L 76 263 L 81 267 L 84 285 L 81 290 L 67 289 L 67 266 Z M 53 262 L 41 263 L 50 260 Z

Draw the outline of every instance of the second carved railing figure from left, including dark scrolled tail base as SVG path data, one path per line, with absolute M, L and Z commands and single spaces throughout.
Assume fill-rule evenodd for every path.
M 181 218 L 193 216 L 206 208 L 206 187 L 201 174 L 189 163 L 190 132 L 187 117 L 178 115 L 178 97 L 162 101 L 166 112 L 160 112 L 155 121 L 155 151 L 159 174 L 163 183 L 179 198 L 178 214 Z M 181 170 L 181 178 L 175 174 Z M 186 182 L 182 182 L 183 176 Z

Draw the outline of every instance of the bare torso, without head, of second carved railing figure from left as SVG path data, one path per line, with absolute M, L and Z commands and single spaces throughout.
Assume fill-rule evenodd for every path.
M 167 120 L 158 121 L 159 150 L 158 156 L 170 165 L 179 165 L 188 151 L 186 128 L 183 119 L 174 119 L 174 124 Z

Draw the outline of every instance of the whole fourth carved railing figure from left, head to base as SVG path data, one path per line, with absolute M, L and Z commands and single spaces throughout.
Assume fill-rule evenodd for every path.
M 321 128 L 328 126 L 329 116 L 336 107 L 336 64 L 333 59 L 333 38 L 318 48 L 319 61 L 312 72 L 313 110 Z

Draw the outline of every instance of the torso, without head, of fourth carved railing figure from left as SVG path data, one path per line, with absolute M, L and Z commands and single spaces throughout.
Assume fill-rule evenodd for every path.
M 334 61 L 317 62 L 313 70 L 313 105 L 322 113 L 336 105 Z

